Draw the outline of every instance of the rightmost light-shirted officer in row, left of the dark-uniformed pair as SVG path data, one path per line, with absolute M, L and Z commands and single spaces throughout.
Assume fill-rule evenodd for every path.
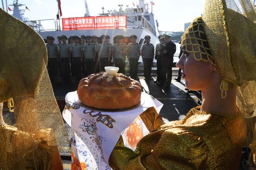
M 146 44 L 144 44 L 141 48 L 141 56 L 144 65 L 144 79 L 146 81 L 152 79 L 151 69 L 155 54 L 155 47 L 153 44 L 150 43 L 150 38 L 151 37 L 149 35 L 144 37 Z

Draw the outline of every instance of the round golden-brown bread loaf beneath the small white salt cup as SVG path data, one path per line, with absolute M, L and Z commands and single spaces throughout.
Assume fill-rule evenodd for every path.
M 141 100 L 141 84 L 127 76 L 106 72 L 83 78 L 78 85 L 79 100 L 101 109 L 122 109 L 138 104 Z

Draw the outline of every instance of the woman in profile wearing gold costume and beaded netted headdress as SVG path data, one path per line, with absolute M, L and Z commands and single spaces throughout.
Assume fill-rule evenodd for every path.
M 149 134 L 135 151 L 122 139 L 113 170 L 237 170 L 243 146 L 256 151 L 256 11 L 249 0 L 205 0 L 202 17 L 182 37 L 186 87 L 202 90 L 202 106 L 183 120 L 163 123 L 149 108 Z

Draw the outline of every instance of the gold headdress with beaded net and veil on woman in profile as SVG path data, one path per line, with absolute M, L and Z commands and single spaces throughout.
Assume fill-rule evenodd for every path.
M 203 26 L 205 31 L 200 29 Z M 250 0 L 205 0 L 202 18 L 185 31 L 182 46 L 220 71 L 222 98 L 236 85 L 237 106 L 247 119 L 247 145 L 256 153 L 256 10 Z M 205 37 L 206 36 L 206 37 Z M 254 135 L 252 135 L 254 133 Z M 252 136 L 254 138 L 252 139 Z

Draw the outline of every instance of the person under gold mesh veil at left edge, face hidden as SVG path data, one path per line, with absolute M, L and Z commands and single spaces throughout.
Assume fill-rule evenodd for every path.
M 0 30 L 0 170 L 62 170 L 68 138 L 44 41 L 2 9 Z

